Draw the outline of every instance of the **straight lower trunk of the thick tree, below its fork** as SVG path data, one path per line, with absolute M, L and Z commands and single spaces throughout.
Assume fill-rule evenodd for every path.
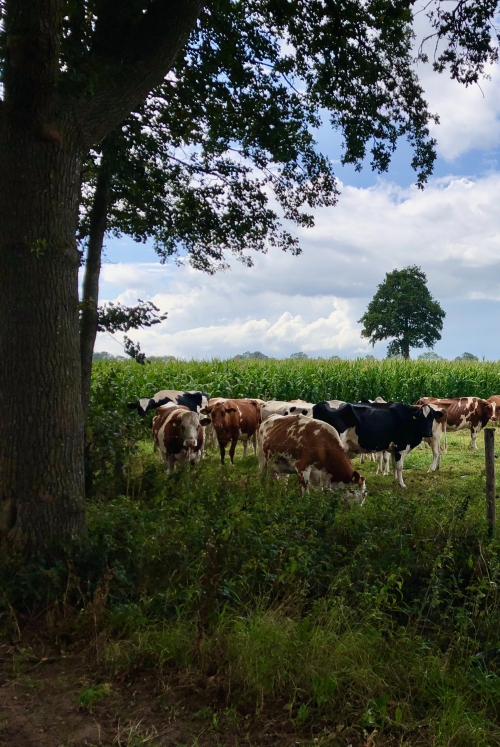
M 21 125 L 21 126 L 20 126 Z M 81 154 L 13 121 L 0 142 L 0 542 L 85 534 L 78 320 Z

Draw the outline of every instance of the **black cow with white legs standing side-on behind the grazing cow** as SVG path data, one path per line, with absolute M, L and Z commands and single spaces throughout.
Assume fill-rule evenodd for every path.
M 313 418 L 332 425 L 349 456 L 370 451 L 388 451 L 392 455 L 394 479 L 404 488 L 403 464 L 409 452 L 432 437 L 434 420 L 443 413 L 429 406 L 415 407 L 401 402 L 381 404 L 345 404 L 337 410 L 328 402 L 318 402 Z

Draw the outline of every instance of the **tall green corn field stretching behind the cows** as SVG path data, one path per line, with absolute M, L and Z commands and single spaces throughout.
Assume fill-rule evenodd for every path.
M 500 363 L 405 360 L 100 361 L 94 364 L 94 403 L 116 404 L 161 389 L 201 390 L 210 396 L 357 401 L 381 396 L 408 404 L 419 397 L 500 393 Z

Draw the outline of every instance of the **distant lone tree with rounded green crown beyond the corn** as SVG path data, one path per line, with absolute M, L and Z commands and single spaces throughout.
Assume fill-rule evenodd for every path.
M 432 348 L 441 339 L 445 313 L 427 288 L 427 277 L 412 265 L 388 272 L 359 320 L 372 345 L 393 338 L 389 356 L 410 357 L 410 348 Z

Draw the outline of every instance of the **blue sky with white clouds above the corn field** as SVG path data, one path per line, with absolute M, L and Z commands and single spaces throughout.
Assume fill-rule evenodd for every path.
M 314 211 L 314 228 L 296 230 L 302 255 L 271 250 L 255 255 L 252 268 L 235 261 L 208 276 L 160 265 L 151 246 L 126 237 L 106 240 L 101 302 L 140 298 L 168 312 L 161 325 L 130 333 L 146 355 L 383 358 L 387 343 L 372 348 L 357 320 L 387 272 L 417 264 L 446 312 L 435 352 L 500 359 L 500 69 L 467 89 L 429 66 L 418 72 L 440 117 L 432 126 L 438 159 L 424 191 L 414 185 L 405 143 L 387 173 L 369 165 L 358 173 L 340 165 L 339 134 L 325 126 L 318 144 L 336 164 L 341 196 Z M 96 350 L 120 355 L 121 342 L 99 334 Z

